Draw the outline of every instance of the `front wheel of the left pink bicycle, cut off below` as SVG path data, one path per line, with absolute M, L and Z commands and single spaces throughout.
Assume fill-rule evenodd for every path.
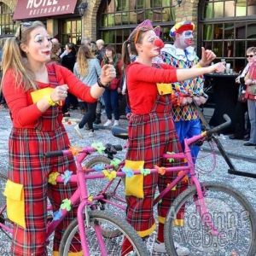
M 119 237 L 106 238 L 102 236 L 108 255 L 119 255 L 125 237 L 131 242 L 133 246 L 133 251 L 137 253 L 136 255 L 149 255 L 146 244 L 143 242 L 142 238 L 137 235 L 137 232 L 133 230 L 133 228 L 129 224 L 124 222 L 124 220 L 122 220 L 118 216 L 115 216 L 113 213 L 110 212 L 107 213 L 96 210 L 89 212 L 89 217 L 89 227 L 85 226 L 86 222 L 84 217 L 84 230 L 90 255 L 102 256 L 102 252 L 99 248 L 95 232 L 95 227 L 99 225 L 101 226 L 101 228 L 102 226 L 104 226 L 104 230 L 108 229 L 109 233 L 111 233 L 111 230 L 116 229 L 118 229 L 122 233 L 122 236 Z M 79 224 L 78 220 L 74 219 L 73 222 L 67 227 L 67 230 L 65 231 L 61 239 L 61 246 L 59 252 L 60 255 L 67 256 L 71 255 L 72 252 L 78 253 L 79 251 L 81 251 L 82 249 L 79 239 Z

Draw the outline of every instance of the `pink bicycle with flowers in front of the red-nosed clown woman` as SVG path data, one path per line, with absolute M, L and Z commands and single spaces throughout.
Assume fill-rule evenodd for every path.
M 175 189 L 179 181 L 189 177 L 189 188 L 177 196 L 166 216 L 165 243 L 169 255 L 177 255 L 176 243 L 188 247 L 190 255 L 256 255 L 256 214 L 250 202 L 241 195 L 241 192 L 228 184 L 216 181 L 201 183 L 196 176 L 189 150 L 189 145 L 201 140 L 211 143 L 215 132 L 230 125 L 227 115 L 224 115 L 224 119 L 226 120 L 224 124 L 204 131 L 199 136 L 186 139 L 183 154 L 163 155 L 170 160 L 187 160 L 187 164 L 166 168 L 166 172 L 183 172 L 155 198 L 154 205 L 160 203 L 162 196 L 170 189 Z M 113 127 L 113 136 L 127 139 L 127 130 Z M 116 149 L 113 148 L 113 154 L 109 150 L 108 157 L 96 155 L 91 158 L 85 164 L 86 172 L 100 172 L 103 169 L 109 172 L 122 172 L 125 160 L 121 160 L 118 166 L 114 163 L 113 156 L 116 154 Z M 150 172 L 158 172 L 158 170 L 151 169 Z M 138 170 L 134 173 L 142 172 Z M 99 201 L 101 209 L 119 207 L 125 210 L 124 183 L 120 179 L 113 179 L 108 183 L 103 183 L 103 179 L 100 181 L 102 191 L 97 195 L 103 197 Z M 178 223 L 177 215 L 181 214 L 182 221 Z M 119 215 L 125 218 L 125 211 L 119 211 Z M 115 230 L 114 234 L 119 236 L 119 231 Z

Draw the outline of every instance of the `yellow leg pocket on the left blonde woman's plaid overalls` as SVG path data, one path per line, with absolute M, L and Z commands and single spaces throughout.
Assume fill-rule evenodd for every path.
M 3 195 L 6 196 L 8 218 L 26 228 L 23 185 L 8 180 Z

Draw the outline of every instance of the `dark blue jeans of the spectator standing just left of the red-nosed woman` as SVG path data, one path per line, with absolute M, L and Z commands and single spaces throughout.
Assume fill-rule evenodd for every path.
M 117 90 L 106 89 L 103 93 L 105 111 L 108 119 L 112 119 L 112 112 L 115 120 L 119 120 L 119 94 Z

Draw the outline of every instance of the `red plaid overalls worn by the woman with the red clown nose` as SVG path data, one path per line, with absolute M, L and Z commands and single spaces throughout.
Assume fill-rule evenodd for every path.
M 161 159 L 166 152 L 182 152 L 178 141 L 177 132 L 170 114 L 172 108 L 172 95 L 158 96 L 154 108 L 150 113 L 132 115 L 128 127 L 129 148 L 126 154 L 127 160 L 145 160 L 144 168 L 157 166 L 179 166 L 181 161 L 170 163 Z M 140 231 L 140 236 L 148 236 L 154 228 L 153 201 L 156 186 L 160 192 L 166 189 L 168 183 L 177 177 L 177 172 L 165 174 L 149 174 L 144 177 L 144 198 L 126 196 L 127 221 L 135 230 Z M 165 219 L 166 213 L 172 201 L 184 189 L 187 183 L 178 183 L 177 189 L 165 195 L 158 204 L 158 215 Z

